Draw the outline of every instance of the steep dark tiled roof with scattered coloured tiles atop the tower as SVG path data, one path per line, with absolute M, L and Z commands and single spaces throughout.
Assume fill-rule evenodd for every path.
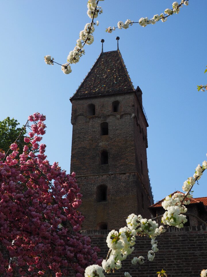
M 101 53 L 76 93 L 70 98 L 135 91 L 119 50 Z

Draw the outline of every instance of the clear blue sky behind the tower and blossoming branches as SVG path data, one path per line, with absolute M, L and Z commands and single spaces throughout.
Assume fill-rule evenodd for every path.
M 70 171 L 72 138 L 71 103 L 76 91 L 101 52 L 119 49 L 135 88 L 143 92 L 148 117 L 148 167 L 154 200 L 181 190 L 198 163 L 207 159 L 206 84 L 207 1 L 189 0 L 179 14 L 145 28 L 134 24 L 112 34 L 106 27 L 119 20 L 151 18 L 172 7 L 171 0 L 105 0 L 99 4 L 94 43 L 65 75 L 60 66 L 49 66 L 45 55 L 66 62 L 79 32 L 90 22 L 87 0 L 1 0 L 0 11 L 0 120 L 14 117 L 23 125 L 28 115 L 46 115 L 43 142 L 50 162 Z M 194 196 L 207 196 L 207 172 Z

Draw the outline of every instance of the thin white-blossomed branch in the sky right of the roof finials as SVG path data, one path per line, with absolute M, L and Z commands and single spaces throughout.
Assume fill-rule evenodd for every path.
M 155 14 L 153 16 L 153 18 L 151 18 L 151 19 L 148 19 L 147 17 L 145 17 L 145 18 L 141 17 L 138 22 L 134 22 L 134 21 L 129 20 L 129 19 L 127 19 L 127 21 L 125 23 L 123 23 L 122 21 L 119 21 L 118 24 L 117 24 L 117 27 L 113 27 L 113 28 L 108 27 L 106 29 L 106 32 L 112 33 L 112 31 L 115 31 L 116 28 L 118 28 L 118 29 L 122 29 L 122 28 L 127 29 L 127 28 L 129 28 L 129 26 L 133 25 L 133 23 L 139 23 L 140 26 L 146 27 L 147 25 L 150 25 L 150 24 L 154 25 L 159 20 L 161 20 L 162 22 L 165 22 L 167 20 L 168 16 L 173 15 L 175 13 L 176 14 L 179 13 L 180 8 L 182 8 L 182 4 L 187 6 L 188 1 L 189 0 L 187 0 L 187 1 L 181 0 L 180 4 L 178 2 L 173 2 L 173 4 L 172 4 L 173 8 L 172 9 L 166 9 L 164 11 L 164 13 L 161 13 L 160 15 Z

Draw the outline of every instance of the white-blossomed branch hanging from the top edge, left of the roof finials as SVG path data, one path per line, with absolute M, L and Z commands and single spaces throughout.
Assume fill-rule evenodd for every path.
M 99 1 L 104 1 L 104 0 L 99 0 Z M 70 64 L 72 63 L 78 63 L 80 58 L 85 54 L 85 50 L 83 46 L 85 44 L 90 45 L 94 41 L 94 37 L 92 33 L 95 31 L 95 25 L 99 25 L 99 21 L 96 21 L 96 23 L 93 21 L 94 18 L 97 18 L 99 14 L 103 12 L 102 8 L 97 6 L 98 1 L 96 0 L 88 0 L 88 11 L 87 14 L 90 18 L 92 18 L 91 23 L 87 23 L 85 25 L 85 28 L 80 32 L 79 38 L 76 41 L 76 46 L 72 51 L 70 51 L 68 57 L 67 57 L 67 63 L 63 64 L 61 66 L 62 72 L 65 74 L 69 74 L 72 72 Z M 53 65 L 54 59 L 51 59 L 50 55 L 47 55 L 44 57 L 45 58 L 45 63 L 49 65 Z

